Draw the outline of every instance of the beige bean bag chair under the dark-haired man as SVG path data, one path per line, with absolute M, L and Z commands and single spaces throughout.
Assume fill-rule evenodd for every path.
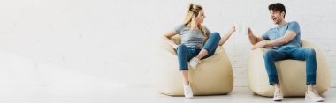
M 302 40 L 302 47 L 314 48 L 317 54 L 317 92 L 326 92 L 330 85 L 330 72 L 325 56 L 317 46 Z M 272 97 L 274 87 L 269 85 L 263 54 L 267 48 L 258 48 L 249 53 L 248 87 L 249 90 L 262 96 Z M 285 97 L 304 96 L 306 85 L 306 62 L 284 60 L 275 63 L 279 84 Z

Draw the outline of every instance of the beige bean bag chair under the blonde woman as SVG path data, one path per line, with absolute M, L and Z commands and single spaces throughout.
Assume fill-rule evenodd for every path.
M 173 36 L 171 40 L 176 44 L 180 43 L 179 35 Z M 157 92 L 172 96 L 184 95 L 176 51 L 163 40 L 159 43 L 154 68 Z M 215 55 L 203 59 L 195 70 L 189 66 L 189 81 L 194 95 L 231 92 L 233 90 L 233 70 L 224 48 L 218 46 Z

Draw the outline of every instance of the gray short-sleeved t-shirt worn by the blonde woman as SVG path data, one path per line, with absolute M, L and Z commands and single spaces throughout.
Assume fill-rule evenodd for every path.
M 181 44 L 187 47 L 203 47 L 205 36 L 201 30 L 190 30 L 187 26 L 180 25 L 175 28 L 175 31 L 181 36 Z M 205 31 L 207 35 L 210 35 L 210 31 L 207 27 L 205 27 Z

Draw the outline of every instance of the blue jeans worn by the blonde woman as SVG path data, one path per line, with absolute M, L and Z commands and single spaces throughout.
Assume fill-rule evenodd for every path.
M 203 48 L 208 51 L 208 55 L 202 57 L 202 59 L 208 58 L 215 54 L 218 42 L 220 40 L 219 33 L 211 33 L 209 39 L 205 42 Z M 188 70 L 187 62 L 193 57 L 197 56 L 201 48 L 187 47 L 184 44 L 180 44 L 177 48 L 177 54 L 179 59 L 179 70 Z

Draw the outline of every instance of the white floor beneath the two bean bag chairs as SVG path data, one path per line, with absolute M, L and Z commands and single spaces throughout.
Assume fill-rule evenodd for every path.
M 325 102 L 336 102 L 336 88 L 323 95 Z M 171 97 L 151 87 L 11 87 L 0 89 L 0 103 L 269 103 L 271 98 L 254 95 L 247 87 L 234 87 L 228 95 Z M 284 103 L 303 103 L 301 98 L 285 98 Z

